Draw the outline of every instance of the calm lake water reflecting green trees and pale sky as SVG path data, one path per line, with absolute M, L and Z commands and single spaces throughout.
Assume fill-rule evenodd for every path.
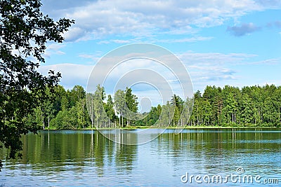
M 138 142 L 141 131 L 104 133 Z M 0 186 L 281 185 L 280 129 L 166 130 L 138 146 L 117 144 L 96 130 L 41 131 L 22 141 L 22 159 L 4 161 Z M 0 158 L 6 153 L 2 149 Z

